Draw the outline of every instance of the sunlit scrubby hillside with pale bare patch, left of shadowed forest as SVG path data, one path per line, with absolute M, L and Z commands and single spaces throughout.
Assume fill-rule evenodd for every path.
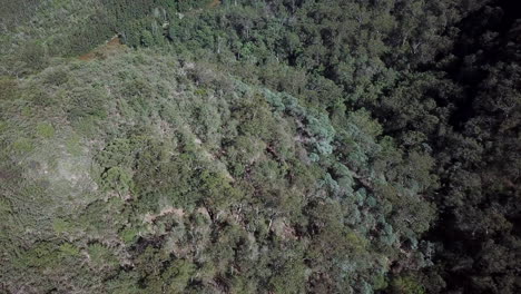
M 367 165 L 420 155 L 375 138 L 364 111 L 336 130 L 287 94 L 151 50 L 57 60 L 1 97 L 6 291 L 357 292 L 423 261 L 402 242 L 427 227 L 427 184 Z

